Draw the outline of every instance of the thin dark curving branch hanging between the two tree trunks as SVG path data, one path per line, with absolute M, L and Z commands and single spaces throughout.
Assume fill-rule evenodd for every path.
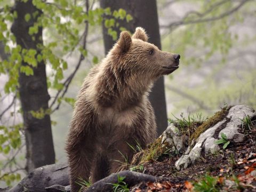
M 89 0 L 86 0 L 86 2 L 85 2 L 85 7 L 86 7 L 86 13 L 88 13 L 88 12 L 89 12 Z M 86 49 L 86 39 L 87 39 L 87 35 L 88 35 L 88 28 L 89 28 L 89 22 L 88 22 L 88 21 L 85 21 L 84 39 L 83 39 L 83 46 L 82 46 L 84 50 Z M 68 87 L 69 87 L 71 81 L 73 80 L 75 74 L 77 73 L 77 70 L 78 70 L 79 67 L 81 66 L 81 63 L 82 63 L 83 60 L 84 60 L 84 55 L 81 53 L 81 54 L 80 54 L 80 57 L 79 57 L 79 60 L 78 60 L 78 62 L 77 62 L 77 65 L 76 65 L 75 70 L 73 71 L 73 73 L 71 73 L 71 74 L 69 75 L 69 77 L 68 77 L 68 78 L 66 79 L 66 81 L 63 83 L 64 88 L 63 88 L 62 90 L 58 91 L 58 93 L 55 95 L 55 98 L 54 98 L 54 100 L 52 101 L 52 103 L 51 103 L 51 105 L 50 105 L 50 108 L 53 107 L 54 103 L 57 101 L 57 99 L 58 99 L 59 95 L 61 94 L 61 92 L 62 92 L 62 94 L 61 94 L 60 98 L 63 98 L 64 95 L 67 93 Z M 59 102 L 58 105 L 57 105 L 54 109 L 52 109 L 52 113 L 53 113 L 55 110 L 58 110 L 59 107 L 60 107 L 60 105 L 61 105 L 61 103 Z

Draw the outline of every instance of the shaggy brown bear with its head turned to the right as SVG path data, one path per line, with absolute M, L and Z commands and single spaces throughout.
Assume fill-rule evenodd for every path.
M 115 172 L 126 156 L 131 161 L 138 142 L 142 148 L 156 138 L 150 87 L 179 66 L 180 55 L 147 42 L 141 27 L 131 36 L 123 31 L 101 63 L 91 69 L 79 91 L 66 150 L 71 191 L 79 178 L 98 181 Z M 118 162 L 119 161 L 119 162 Z

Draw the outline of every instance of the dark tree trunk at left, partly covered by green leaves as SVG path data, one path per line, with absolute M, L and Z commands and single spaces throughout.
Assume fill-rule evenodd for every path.
M 35 49 L 40 54 L 38 44 L 43 44 L 42 27 L 38 28 L 38 33 L 32 37 L 28 34 L 29 27 L 34 25 L 37 17 L 33 18 L 33 13 L 42 12 L 33 5 L 32 1 L 15 1 L 14 11 L 18 17 L 12 25 L 12 33 L 15 35 L 17 44 L 23 49 Z M 26 22 L 25 15 L 30 14 L 31 19 Z M 28 65 L 22 62 L 23 66 Z M 51 119 L 45 115 L 42 119 L 35 118 L 30 111 L 48 109 L 50 96 L 47 92 L 46 72 L 44 61 L 38 62 L 38 66 L 33 68 L 34 75 L 26 76 L 19 74 L 19 94 L 25 127 L 26 149 L 27 149 L 27 171 L 32 171 L 36 167 L 55 162 L 55 154 L 52 140 Z

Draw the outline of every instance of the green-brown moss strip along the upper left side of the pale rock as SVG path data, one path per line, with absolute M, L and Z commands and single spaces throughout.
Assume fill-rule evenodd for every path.
M 231 106 L 222 108 L 220 111 L 216 112 L 212 117 L 207 119 L 202 125 L 198 126 L 195 132 L 191 134 L 191 136 L 189 137 L 189 144 L 191 144 L 193 139 L 196 140 L 199 137 L 199 135 L 203 133 L 205 130 L 222 121 L 228 115 L 228 111 L 230 108 Z

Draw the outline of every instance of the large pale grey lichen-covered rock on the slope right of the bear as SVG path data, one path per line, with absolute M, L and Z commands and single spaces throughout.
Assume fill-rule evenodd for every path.
M 194 147 L 191 150 L 189 148 L 186 153 L 175 162 L 175 167 L 178 170 L 186 169 L 189 165 L 193 164 L 202 153 L 215 153 L 220 150 L 219 145 L 217 145 L 215 141 L 221 139 L 221 133 L 224 133 L 228 140 L 243 142 L 245 135 L 238 131 L 239 127 L 242 126 L 245 116 L 249 118 L 254 117 L 255 110 L 246 105 L 230 108 L 226 118 L 199 135 L 195 140 Z

